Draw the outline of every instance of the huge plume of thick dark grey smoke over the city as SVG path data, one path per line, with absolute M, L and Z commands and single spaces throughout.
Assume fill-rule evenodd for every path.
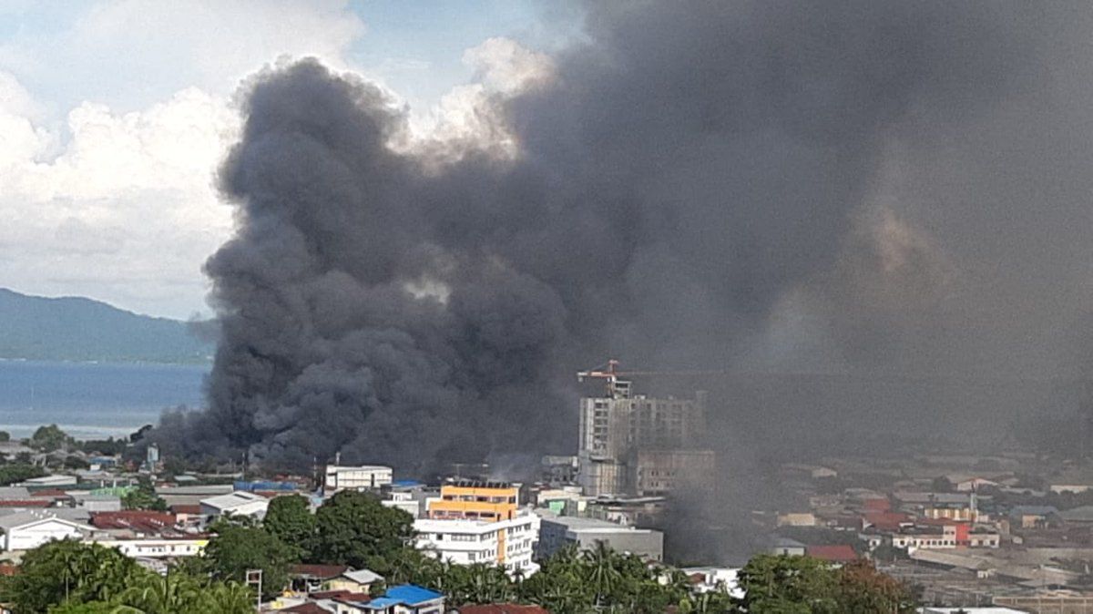
M 220 176 L 238 233 L 207 265 L 210 408 L 158 436 L 426 473 L 572 452 L 573 373 L 609 356 L 1051 376 L 1091 287 L 1090 14 L 596 2 L 549 82 L 483 107 L 515 158 L 392 149 L 408 119 L 376 86 L 269 69 Z M 727 385 L 712 416 L 733 462 L 772 415 L 891 404 L 775 383 L 772 408 L 764 386 Z

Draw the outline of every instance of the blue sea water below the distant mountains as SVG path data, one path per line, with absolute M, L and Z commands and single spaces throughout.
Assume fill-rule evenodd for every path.
M 127 436 L 164 409 L 204 406 L 208 365 L 0 359 L 0 430 L 56 424 L 78 439 Z

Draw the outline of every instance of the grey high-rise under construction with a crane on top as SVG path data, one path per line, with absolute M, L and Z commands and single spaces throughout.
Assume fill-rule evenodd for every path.
M 579 483 L 586 495 L 665 495 L 706 483 L 714 452 L 703 447 L 706 394 L 653 399 L 633 392 L 627 374 L 583 371 L 604 381 L 601 395 L 580 400 Z

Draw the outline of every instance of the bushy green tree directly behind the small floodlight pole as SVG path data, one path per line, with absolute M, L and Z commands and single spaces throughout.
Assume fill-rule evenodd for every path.
M 204 557 L 213 578 L 246 581 L 247 569 L 262 570 L 262 595 L 273 597 L 289 585 L 289 566 L 297 552 L 262 527 L 216 522 Z

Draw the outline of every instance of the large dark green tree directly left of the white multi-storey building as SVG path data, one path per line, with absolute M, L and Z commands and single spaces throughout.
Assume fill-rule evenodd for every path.
M 413 536 L 413 517 L 384 507 L 374 495 L 342 491 L 315 515 L 314 559 L 353 567 L 383 567 L 384 559 L 406 547 Z

